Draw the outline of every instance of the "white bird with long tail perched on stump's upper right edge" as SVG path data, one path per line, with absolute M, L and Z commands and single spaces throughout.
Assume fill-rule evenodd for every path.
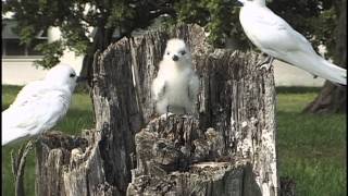
M 238 0 L 243 3 L 239 21 L 247 37 L 262 52 L 320 76 L 347 84 L 347 71 L 314 51 L 311 44 L 265 5 L 265 0 Z

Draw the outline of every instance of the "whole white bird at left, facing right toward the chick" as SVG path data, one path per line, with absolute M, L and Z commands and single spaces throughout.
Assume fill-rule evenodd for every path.
M 27 84 L 2 112 L 2 146 L 41 134 L 62 119 L 77 76 L 67 64 L 53 66 L 44 81 Z

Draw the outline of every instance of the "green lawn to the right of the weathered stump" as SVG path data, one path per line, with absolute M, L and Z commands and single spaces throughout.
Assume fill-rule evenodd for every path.
M 277 89 L 281 176 L 296 182 L 300 196 L 347 195 L 346 114 L 308 114 L 319 89 Z

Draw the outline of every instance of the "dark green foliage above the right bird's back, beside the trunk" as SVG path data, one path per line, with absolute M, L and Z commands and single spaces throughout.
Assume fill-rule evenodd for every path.
M 274 0 L 269 8 L 285 19 L 296 30 L 307 37 L 318 51 L 320 45 L 326 47 L 325 56 L 332 58 L 337 25 L 333 0 Z

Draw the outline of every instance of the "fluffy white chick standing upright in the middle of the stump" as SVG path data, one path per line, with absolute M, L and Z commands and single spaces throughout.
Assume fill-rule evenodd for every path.
M 182 39 L 170 39 L 152 83 L 156 111 L 159 114 L 192 113 L 198 89 L 199 79 L 188 48 Z

